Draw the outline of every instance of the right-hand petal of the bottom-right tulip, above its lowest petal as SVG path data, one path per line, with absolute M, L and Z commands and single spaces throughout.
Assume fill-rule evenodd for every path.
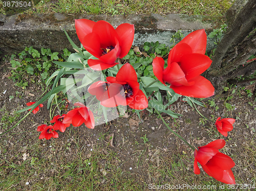
M 218 166 L 222 170 L 231 169 L 235 165 L 233 160 L 223 153 L 214 155 L 214 157 L 209 160 L 209 163 Z

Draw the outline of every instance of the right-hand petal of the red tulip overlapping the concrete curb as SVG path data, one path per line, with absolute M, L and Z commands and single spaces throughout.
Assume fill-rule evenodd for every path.
M 134 25 L 123 23 L 116 28 L 116 32 L 119 36 L 119 43 L 121 47 L 119 58 L 122 58 L 129 53 L 133 44 Z

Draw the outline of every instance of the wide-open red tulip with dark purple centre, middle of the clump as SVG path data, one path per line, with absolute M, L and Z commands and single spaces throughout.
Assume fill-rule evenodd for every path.
M 89 93 L 95 95 L 101 105 L 105 107 L 129 105 L 133 109 L 147 108 L 147 98 L 139 89 L 137 74 L 131 64 L 124 64 L 116 77 L 106 77 L 106 81 L 95 82 L 88 88 Z

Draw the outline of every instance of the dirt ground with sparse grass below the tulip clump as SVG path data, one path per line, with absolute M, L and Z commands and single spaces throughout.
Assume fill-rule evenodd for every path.
M 25 90 L 15 86 L 8 79 L 10 70 L 6 66 L 0 69 L 1 132 L 10 129 L 26 113 L 19 115 L 15 111 L 42 93 L 36 84 Z M 256 181 L 255 83 L 246 88 L 251 88 L 251 97 L 239 87 L 230 87 L 229 96 L 236 90 L 233 98 L 214 100 L 218 110 L 204 100 L 205 107 L 198 106 L 202 114 L 213 120 L 220 116 L 237 118 L 227 137 L 222 136 L 212 122 L 200 124 L 201 116 L 187 103 L 173 105 L 172 110 L 182 114 L 179 118 L 162 116 L 169 127 L 195 147 L 225 139 L 226 146 L 221 152 L 236 163 L 232 168 L 236 183 L 253 185 Z M 225 103 L 232 108 L 227 109 Z M 66 132 L 59 132 L 56 139 L 39 140 L 37 126 L 50 121 L 46 103 L 44 105 L 38 113 L 29 115 L 0 137 L 1 190 L 152 190 L 150 184 L 217 185 L 217 188 L 223 185 L 202 169 L 200 175 L 193 173 L 193 151 L 171 133 L 156 114 L 144 112 L 139 120 L 130 110 L 127 116 L 108 125 L 95 129 L 71 126 Z M 76 187 L 83 179 L 88 185 Z

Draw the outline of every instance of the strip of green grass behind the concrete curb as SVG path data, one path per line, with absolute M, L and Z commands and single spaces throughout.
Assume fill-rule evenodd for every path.
M 233 0 L 42 0 L 27 13 L 82 13 L 82 14 L 170 14 L 222 16 L 231 7 Z M 2 5 L 1 5 L 2 7 Z M 13 10 L 15 12 L 15 10 Z M 5 14 L 3 8 L 0 14 Z

